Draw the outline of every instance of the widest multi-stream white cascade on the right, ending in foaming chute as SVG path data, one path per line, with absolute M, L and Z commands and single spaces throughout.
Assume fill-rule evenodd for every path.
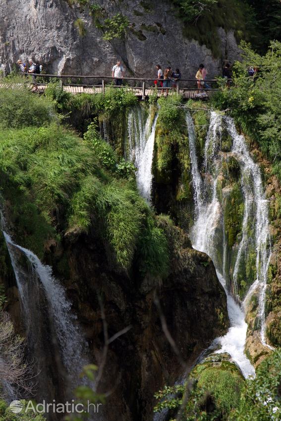
M 188 113 L 186 122 L 189 134 L 190 159 L 193 167 L 192 184 L 194 189 L 195 211 L 197 210 L 196 220 L 191 230 L 191 240 L 195 249 L 207 253 L 213 260 L 217 269 L 218 278 L 224 286 L 227 296 L 230 328 L 225 336 L 216 339 L 215 343 L 221 345 L 221 349 L 217 352 L 227 352 L 239 365 L 245 376 L 254 375 L 254 368 L 244 354 L 247 332 L 247 324 L 244 320 L 245 315 L 239 304 L 231 296 L 228 285 L 226 285 L 225 265 L 227 244 L 225 222 L 222 203 L 217 192 L 217 183 L 220 178 L 223 160 L 223 154 L 220 154 L 220 147 L 224 125 L 232 140 L 232 148 L 229 156 L 235 157 L 240 165 L 241 187 L 245 201 L 242 222 L 242 239 L 238 246 L 233 270 L 234 293 L 238 293 L 237 276 L 241 258 L 243 254 L 247 252 L 247 229 L 249 217 L 251 215 L 252 229 L 255 231 L 257 277 L 244 301 L 247 300 L 254 290 L 259 288 L 261 341 L 263 344 L 266 344 L 264 310 L 267 271 L 270 261 L 270 234 L 268 204 L 263 190 L 260 169 L 250 157 L 245 139 L 243 136 L 238 135 L 233 120 L 222 117 L 222 115 L 212 111 L 205 144 L 203 166 L 206 174 L 205 182 L 203 184 L 202 180 L 199 180 L 198 160 L 197 156 L 194 155 L 194 151 L 196 151 L 196 139 L 194 136 L 193 122 Z M 197 205 L 198 198 L 202 199 L 200 207 Z M 219 235 L 220 232 L 221 236 Z M 223 238 L 223 244 L 222 241 L 219 241 L 219 238 Z M 222 247 L 223 263 L 218 261 L 218 248 L 220 247 Z

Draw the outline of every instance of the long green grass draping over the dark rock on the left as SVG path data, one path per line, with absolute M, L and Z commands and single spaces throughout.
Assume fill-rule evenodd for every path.
M 129 270 L 138 262 L 141 275 L 166 275 L 167 239 L 137 193 L 130 178 L 132 165 L 119 165 L 95 125 L 81 139 L 52 122 L 56 117 L 50 113 L 50 100 L 23 92 L 22 98 L 36 105 L 37 111 L 42 105 L 45 112 L 41 117 L 34 110 L 36 115 L 30 115 L 26 124 L 22 115 L 7 127 L 11 111 L 6 110 L 2 118 L 6 123 L 0 129 L 0 188 L 11 203 L 13 224 L 19 224 L 25 245 L 42 256 L 44 238 L 56 232 L 79 235 L 94 227 L 118 266 Z M 3 106 L 9 98 L 0 90 Z M 40 123 L 43 126 L 37 127 Z M 34 227 L 30 218 L 36 221 Z

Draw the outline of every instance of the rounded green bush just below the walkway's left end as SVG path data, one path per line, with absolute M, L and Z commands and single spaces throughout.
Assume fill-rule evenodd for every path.
M 51 101 L 30 95 L 25 88 L 0 88 L 0 128 L 40 126 L 54 120 Z

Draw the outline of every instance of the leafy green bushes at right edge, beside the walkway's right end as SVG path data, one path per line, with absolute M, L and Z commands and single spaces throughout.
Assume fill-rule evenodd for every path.
M 245 43 L 241 48 L 243 60 L 235 63 L 233 87 L 223 88 L 212 96 L 212 102 L 217 108 L 227 108 L 243 132 L 258 141 L 281 180 L 281 43 L 272 43 L 265 56 Z M 260 69 L 255 80 L 248 77 L 250 65 Z

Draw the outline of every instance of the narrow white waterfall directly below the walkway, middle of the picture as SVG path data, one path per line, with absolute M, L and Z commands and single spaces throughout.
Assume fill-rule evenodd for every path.
M 140 195 L 150 203 L 152 185 L 152 161 L 158 114 L 151 126 L 152 108 L 144 123 L 140 107 L 132 109 L 128 116 L 128 157 L 137 168 L 136 182 Z

